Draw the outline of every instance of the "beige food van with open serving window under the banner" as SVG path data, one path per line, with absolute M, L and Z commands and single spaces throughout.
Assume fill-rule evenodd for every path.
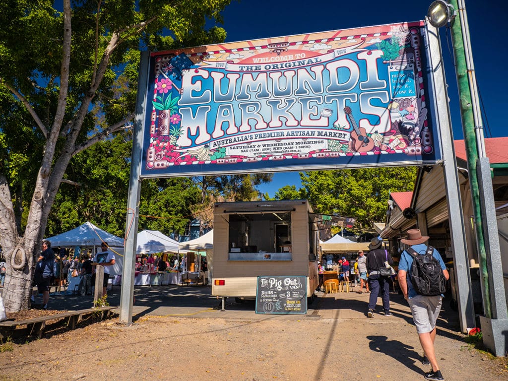
M 258 276 L 305 276 L 319 283 L 316 214 L 307 200 L 216 203 L 212 295 L 255 299 Z

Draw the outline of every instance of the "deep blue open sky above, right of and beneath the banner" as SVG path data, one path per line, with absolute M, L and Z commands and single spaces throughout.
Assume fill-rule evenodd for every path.
M 270 38 L 310 32 L 347 29 L 360 26 L 389 24 L 392 22 L 423 20 L 430 0 L 414 0 L 407 3 L 338 2 L 337 0 L 242 0 L 232 1 L 223 13 L 227 42 Z M 474 69 L 480 95 L 485 106 L 485 137 L 506 136 L 505 103 L 502 93 L 508 88 L 506 75 L 501 68 L 506 65 L 508 54 L 502 41 L 506 35 L 505 17 L 508 5 L 501 0 L 481 2 L 465 0 Z M 490 10 L 486 9 L 489 6 Z M 453 66 L 453 48 L 446 28 L 440 29 L 444 67 L 454 139 L 462 139 L 462 126 L 458 104 L 458 92 Z M 483 109 L 482 109 L 483 111 Z M 271 184 L 260 186 L 261 192 L 273 196 L 276 190 L 287 184 L 301 186 L 298 172 L 274 174 Z

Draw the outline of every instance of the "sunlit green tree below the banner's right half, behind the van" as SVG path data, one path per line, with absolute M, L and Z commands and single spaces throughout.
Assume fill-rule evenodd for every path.
M 416 167 L 364 168 L 300 174 L 314 212 L 357 217 L 357 224 L 373 226 L 385 220 L 389 192 L 409 192 Z

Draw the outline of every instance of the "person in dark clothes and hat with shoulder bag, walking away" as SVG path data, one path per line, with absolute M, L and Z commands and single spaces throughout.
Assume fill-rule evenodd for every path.
M 369 243 L 369 252 L 367 253 L 367 273 L 368 283 L 370 289 L 369 309 L 367 311 L 368 317 L 374 317 L 376 308 L 377 296 L 381 291 L 381 298 L 383 300 L 383 309 L 385 316 L 392 316 L 390 312 L 390 276 L 383 276 L 379 273 L 379 269 L 385 267 L 385 262 L 388 261 L 393 265 L 393 259 L 388 255 L 387 250 L 381 248 L 383 245 L 383 238 L 380 236 L 372 238 Z

